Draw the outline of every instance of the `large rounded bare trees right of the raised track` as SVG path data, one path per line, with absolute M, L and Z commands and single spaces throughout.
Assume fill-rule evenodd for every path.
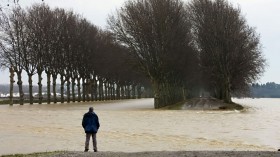
M 259 35 L 227 0 L 193 0 L 188 5 L 201 69 L 213 96 L 231 102 L 264 71 Z

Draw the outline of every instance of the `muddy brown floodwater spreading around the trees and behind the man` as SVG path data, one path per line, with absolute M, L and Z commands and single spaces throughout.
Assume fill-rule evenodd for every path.
M 234 99 L 245 111 L 154 110 L 153 99 L 0 106 L 0 155 L 83 151 L 83 114 L 99 116 L 99 151 L 271 150 L 280 99 Z M 92 143 L 90 143 L 90 148 Z M 92 150 L 91 150 L 92 151 Z

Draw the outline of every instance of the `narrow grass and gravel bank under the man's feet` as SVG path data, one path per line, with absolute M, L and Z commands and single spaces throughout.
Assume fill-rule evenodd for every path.
M 279 151 L 46 152 L 2 157 L 279 157 Z

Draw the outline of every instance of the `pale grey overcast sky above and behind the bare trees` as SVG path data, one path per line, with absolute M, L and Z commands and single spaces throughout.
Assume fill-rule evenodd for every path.
M 4 6 L 7 1 L 13 0 L 0 0 L 0 3 Z M 35 2 L 42 3 L 41 0 L 20 0 L 20 4 L 25 7 Z M 52 8 L 71 9 L 93 24 L 106 28 L 108 14 L 121 7 L 125 0 L 44 0 L 44 2 Z M 263 54 L 268 66 L 258 83 L 280 83 L 280 0 L 230 0 L 230 2 L 240 6 L 248 24 L 255 27 L 261 36 Z M 23 81 L 27 84 L 27 79 Z M 7 83 L 9 83 L 8 71 L 0 71 L 0 84 Z

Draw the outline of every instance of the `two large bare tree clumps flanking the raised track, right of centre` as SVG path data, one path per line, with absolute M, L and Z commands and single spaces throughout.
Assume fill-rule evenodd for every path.
M 259 35 L 227 0 L 130 0 L 108 21 L 151 81 L 155 108 L 193 84 L 230 103 L 264 71 Z

